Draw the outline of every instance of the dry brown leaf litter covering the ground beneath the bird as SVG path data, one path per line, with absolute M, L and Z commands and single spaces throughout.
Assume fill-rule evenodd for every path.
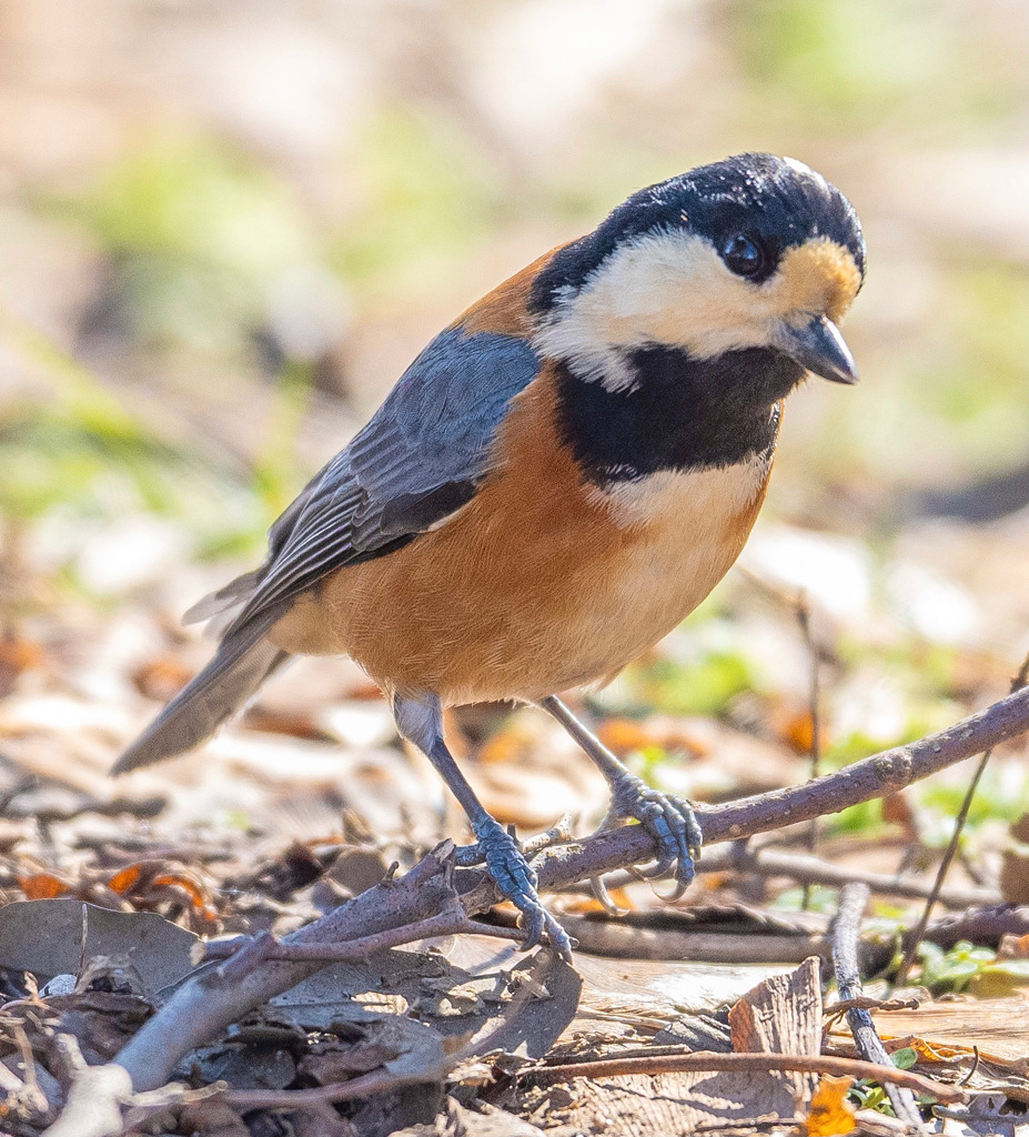
M 19 650 L 13 657 L 31 673 L 41 656 Z M 157 661 L 135 670 L 133 689 L 163 698 L 160 684 L 185 674 Z M 63 683 L 22 694 L 24 686 L 15 684 L 0 704 L 9 827 L 0 875 L 7 899 L 0 907 L 2 1123 L 18 1137 L 43 1132 L 61 1111 L 66 1120 L 78 1117 L 82 1095 L 74 1087 L 86 1082 L 69 1063 L 69 1048 L 86 1068 L 110 1062 L 196 973 L 198 937 L 287 935 L 388 880 L 395 865 L 412 865 L 446 832 L 459 836 L 431 771 L 395 747 L 381 704 L 347 667 L 327 683 L 329 712 L 294 689 L 289 715 L 258 707 L 204 755 L 133 775 L 124 787 L 101 778 L 133 729 L 124 700 L 119 709 L 78 699 Z M 324 694 L 323 686 L 318 698 Z M 711 763 L 716 796 L 720 758 L 736 745 L 737 774 L 750 771 L 750 789 L 802 778 L 797 752 L 810 737 L 798 721 L 782 719 L 781 737 L 793 740 L 786 744 L 696 717 L 611 720 L 605 737 L 630 756 L 684 752 L 699 781 Z M 473 750 L 474 721 L 457 729 Z M 566 744 L 548 724 L 528 714 L 500 716 L 481 737 L 478 785 L 505 820 L 540 827 L 570 804 L 578 805 L 578 828 L 599 812 L 603 786 L 591 785 L 588 765 L 567 761 Z M 82 764 L 69 771 L 51 755 L 67 753 L 73 738 Z M 561 795 L 559 785 L 567 787 Z M 898 823 L 910 830 L 912 816 L 908 806 Z M 1020 838 L 1015 828 L 998 865 L 1010 866 Z M 789 840 L 778 837 L 787 853 Z M 880 855 L 861 837 L 850 840 L 865 862 Z M 770 853 L 774 844 L 754 843 Z M 782 877 L 774 872 L 755 877 L 727 865 L 700 878 L 691 903 L 667 907 L 659 886 L 629 877 L 616 893 L 628 911 L 621 920 L 586 896 L 564 894 L 554 903 L 581 941 L 574 970 L 548 962 L 546 953 L 526 957 L 515 945 L 478 936 L 331 964 L 191 1051 L 164 1097 L 122 1094 L 119 1123 L 213 1135 L 283 1124 L 327 1135 L 501 1137 L 650 1137 L 713 1127 L 822 1134 L 845 1124 L 887 1131 L 891 1119 L 872 1117 L 850 1081 L 815 1070 L 674 1070 L 683 1054 L 823 1053 L 823 978 L 814 957 L 828 954 L 828 916 L 770 908 L 782 887 L 777 880 Z M 503 906 L 496 918 L 509 919 Z M 889 937 L 869 929 L 862 961 L 871 972 L 888 962 Z M 1010 938 L 1005 953 L 1016 955 L 1018 944 Z M 696 962 L 705 957 L 708 963 Z M 799 966 L 785 969 L 790 961 Z M 913 1055 L 915 1072 L 944 1084 L 964 1080 L 973 1093 L 1001 1095 L 1011 1103 L 1006 1109 L 1018 1109 L 1029 1060 L 1012 1006 L 1021 989 L 1012 988 L 1013 1001 L 980 1001 L 979 1031 L 962 1018 L 970 1012 L 961 1004 L 938 1001 L 903 1012 L 906 1019 L 883 1012 L 876 1022 L 891 1053 Z M 828 1055 L 853 1053 L 838 1032 L 825 1046 Z M 546 1086 L 530 1076 L 540 1064 L 579 1070 L 613 1056 L 644 1059 L 652 1069 L 576 1073 Z M 362 1079 L 371 1079 L 366 1093 L 332 1104 L 339 1087 Z M 89 1085 L 96 1102 L 99 1090 Z M 302 1099 L 318 1092 L 327 1096 Z M 981 1117 L 973 1124 L 961 1107 L 946 1109 L 949 1117 L 926 1124 L 988 1131 Z M 999 1118 L 999 1106 L 988 1117 Z

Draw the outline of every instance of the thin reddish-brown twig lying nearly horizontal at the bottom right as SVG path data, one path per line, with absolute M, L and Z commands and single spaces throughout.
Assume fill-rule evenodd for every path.
M 956 1086 L 924 1078 L 911 1070 L 898 1070 L 893 1064 L 863 1062 L 828 1054 L 715 1054 L 691 1051 L 686 1054 L 655 1055 L 631 1059 L 598 1059 L 594 1062 L 572 1062 L 566 1065 L 542 1065 L 521 1070 L 518 1080 L 537 1086 L 554 1086 L 573 1078 L 617 1078 L 622 1074 L 706 1073 L 722 1070 L 789 1070 L 799 1073 L 830 1073 L 843 1078 L 870 1078 L 886 1085 L 905 1086 L 918 1094 L 929 1094 L 939 1102 L 966 1101 L 968 1095 Z

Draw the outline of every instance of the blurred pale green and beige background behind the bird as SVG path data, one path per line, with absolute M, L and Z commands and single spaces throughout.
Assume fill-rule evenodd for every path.
M 716 797 L 1002 695 L 1029 645 L 1027 48 L 1016 0 L 6 0 L 5 761 L 108 792 L 209 650 L 180 613 L 421 347 L 629 192 L 747 149 L 857 208 L 862 382 L 790 400 L 742 571 L 589 709 Z M 282 684 L 214 750 L 274 778 L 324 742 L 355 804 L 338 750 L 395 747 L 384 707 L 346 664 Z M 493 807 L 599 806 L 545 755 L 504 772 L 557 745 L 530 719 L 463 720 Z M 981 812 L 1014 816 L 1024 767 L 995 769 Z M 960 790 L 919 794 L 901 822 L 931 844 Z

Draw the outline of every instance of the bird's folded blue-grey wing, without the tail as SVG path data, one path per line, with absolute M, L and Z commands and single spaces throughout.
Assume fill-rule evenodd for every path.
M 470 501 L 507 404 L 539 366 L 532 348 L 509 335 L 438 335 L 272 526 L 267 561 L 239 581 L 252 591 L 229 631 L 337 568 L 399 548 Z

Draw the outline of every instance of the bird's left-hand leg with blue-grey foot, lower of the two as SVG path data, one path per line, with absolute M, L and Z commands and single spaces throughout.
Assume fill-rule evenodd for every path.
M 536 873 L 529 866 L 515 838 L 490 814 L 475 797 L 467 779 L 457 769 L 454 756 L 443 739 L 443 716 L 440 702 L 434 695 L 418 698 L 393 696 L 393 717 L 400 733 L 414 742 L 435 766 L 437 772 L 450 788 L 460 807 L 468 815 L 478 846 L 465 863 L 486 863 L 487 872 L 497 888 L 522 913 L 522 926 L 526 932 L 524 947 L 534 947 L 545 937 L 566 960 L 572 956 L 569 933 L 543 907 L 536 890 Z

